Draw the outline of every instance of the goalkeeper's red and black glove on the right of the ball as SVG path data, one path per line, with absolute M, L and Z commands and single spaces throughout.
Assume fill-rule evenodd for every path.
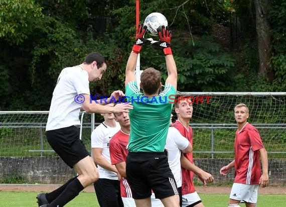
M 151 44 L 161 48 L 165 55 L 172 55 L 172 50 L 170 47 L 172 31 L 170 31 L 168 27 L 165 28 L 163 25 L 157 29 L 157 32 L 160 41 L 152 41 Z

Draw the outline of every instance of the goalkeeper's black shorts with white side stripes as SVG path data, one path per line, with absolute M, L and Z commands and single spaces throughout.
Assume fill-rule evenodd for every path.
M 159 199 L 179 194 L 164 152 L 129 152 L 126 176 L 134 199 L 150 197 L 151 189 Z

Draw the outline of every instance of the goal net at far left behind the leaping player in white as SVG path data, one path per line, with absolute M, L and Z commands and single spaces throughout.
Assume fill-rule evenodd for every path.
M 75 175 L 46 138 L 49 112 L 0 112 L 0 183 L 63 183 Z M 90 151 L 93 114 L 80 113 L 80 138 Z M 93 124 L 93 126 L 92 126 Z

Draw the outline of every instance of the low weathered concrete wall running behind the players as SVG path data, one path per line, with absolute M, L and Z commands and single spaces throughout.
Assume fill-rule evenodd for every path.
M 234 172 L 221 176 L 219 170 L 232 159 L 196 159 L 195 164 L 211 173 L 216 184 L 224 185 L 233 182 Z M 268 161 L 270 185 L 286 186 L 286 160 L 270 159 Z M 19 175 L 26 181 L 43 184 L 64 183 L 76 173 L 59 157 L 0 157 L 0 179 L 12 175 Z M 194 180 L 200 182 L 195 176 Z

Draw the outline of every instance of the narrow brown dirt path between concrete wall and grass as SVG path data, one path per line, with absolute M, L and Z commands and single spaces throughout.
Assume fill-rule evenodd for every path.
M 1 191 L 26 191 L 26 192 L 50 192 L 60 185 L 10 185 L 10 184 L 0 184 Z M 230 192 L 231 186 L 197 186 L 198 193 L 215 193 L 215 194 L 228 194 Z M 84 192 L 94 192 L 93 185 L 86 187 Z M 286 187 L 259 187 L 259 194 L 285 194 Z

